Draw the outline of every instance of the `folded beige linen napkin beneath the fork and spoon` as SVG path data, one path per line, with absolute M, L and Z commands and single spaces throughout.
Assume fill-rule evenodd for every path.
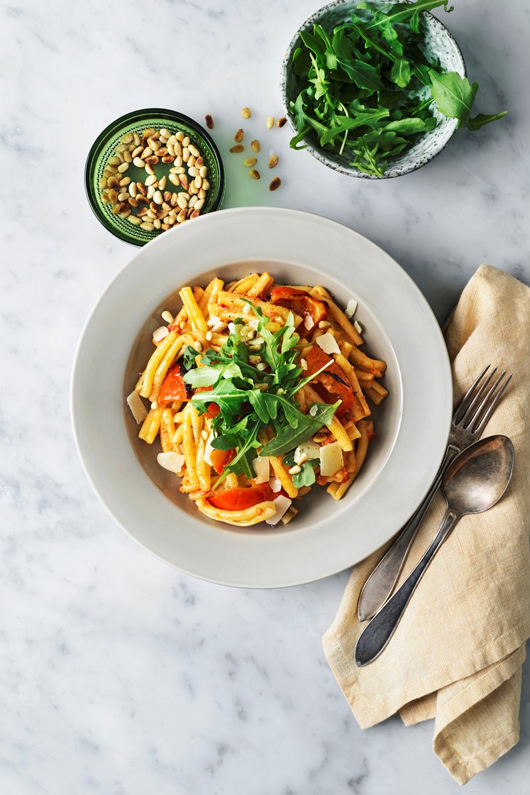
M 481 266 L 445 336 L 455 401 L 486 364 L 513 372 L 483 434 L 512 439 L 513 479 L 491 510 L 459 522 L 381 657 L 363 668 L 354 663 L 365 626 L 357 618 L 359 592 L 388 546 L 354 567 L 323 647 L 361 728 L 394 712 L 405 725 L 434 718 L 433 750 L 464 784 L 519 739 L 521 668 L 530 636 L 530 289 Z M 430 544 L 444 506 L 437 494 L 400 582 Z

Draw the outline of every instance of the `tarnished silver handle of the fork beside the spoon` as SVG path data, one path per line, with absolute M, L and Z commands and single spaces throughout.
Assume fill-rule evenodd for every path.
M 431 505 L 432 498 L 438 491 L 440 483 L 442 483 L 447 467 L 458 456 L 459 452 L 460 450 L 454 444 L 447 445 L 443 461 L 424 501 L 416 509 L 416 513 L 412 515 L 407 524 L 400 530 L 390 548 L 363 585 L 357 606 L 359 621 L 373 618 L 392 593 L 404 562 L 407 560 L 408 552 L 412 546 L 412 541 L 416 537 L 421 520 L 424 518 L 428 506 Z

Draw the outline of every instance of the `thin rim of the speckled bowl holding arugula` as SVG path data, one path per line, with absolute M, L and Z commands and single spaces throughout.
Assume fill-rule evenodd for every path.
M 291 109 L 289 107 L 290 99 L 287 95 L 287 73 L 288 67 L 291 61 L 291 56 L 293 49 L 295 48 L 296 43 L 300 38 L 300 33 L 303 30 L 308 29 L 309 25 L 312 25 L 313 22 L 317 21 L 319 17 L 325 14 L 327 11 L 330 11 L 338 6 L 354 6 L 358 2 L 358 0 L 331 0 L 331 2 L 327 3 L 325 6 L 322 6 L 318 10 L 314 11 L 300 27 L 296 30 L 296 33 L 292 37 L 291 41 L 288 44 L 288 48 L 285 51 L 284 58 L 281 62 L 281 72 L 280 72 L 280 91 L 281 91 L 281 101 L 284 106 L 285 115 L 288 118 L 288 122 L 292 128 L 292 131 L 297 134 L 298 130 L 296 130 L 296 125 L 294 122 L 294 118 L 291 113 Z M 400 0 L 388 0 L 389 3 L 400 2 Z M 412 3 L 413 0 L 404 0 L 404 2 Z M 451 30 L 447 28 L 446 25 L 443 24 L 443 21 L 439 20 L 438 17 L 435 17 L 434 14 L 431 14 L 430 11 L 422 11 L 422 14 L 426 14 L 427 17 L 430 17 L 431 21 L 435 25 L 439 25 L 440 31 L 447 36 L 447 38 L 451 41 L 453 47 L 455 48 L 455 52 L 460 60 L 461 71 L 460 76 L 466 77 L 467 76 L 467 69 L 466 69 L 466 61 L 464 60 L 464 56 L 462 55 L 462 50 L 458 45 L 458 41 L 456 41 L 455 37 L 451 33 Z M 456 118 L 449 118 L 447 119 L 447 134 L 440 138 L 439 145 L 436 149 L 434 149 L 431 153 L 429 153 L 426 157 L 427 159 L 423 160 L 419 163 L 410 164 L 408 166 L 400 166 L 398 173 L 392 173 L 393 169 L 387 169 L 383 176 L 375 176 L 374 174 L 365 174 L 362 171 L 358 171 L 354 168 L 348 168 L 345 165 L 340 165 L 339 163 L 335 163 L 335 161 L 331 161 L 326 154 L 323 153 L 322 149 L 317 149 L 315 146 L 311 145 L 311 143 L 306 142 L 304 139 L 304 143 L 306 143 L 305 151 L 311 154 L 312 157 L 315 157 L 315 160 L 318 160 L 323 165 L 327 165 L 329 169 L 333 169 L 334 171 L 340 174 L 346 174 L 346 176 L 355 176 L 361 180 L 391 180 L 395 179 L 397 176 L 405 176 L 405 174 L 410 174 L 418 169 L 421 169 L 422 166 L 427 165 L 435 157 L 439 155 L 440 152 L 443 152 L 443 149 L 446 148 L 447 144 L 450 142 L 451 138 L 456 132 L 458 126 L 458 119 Z

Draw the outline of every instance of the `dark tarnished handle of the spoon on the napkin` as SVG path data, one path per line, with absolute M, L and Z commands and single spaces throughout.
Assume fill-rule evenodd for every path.
M 454 510 L 447 509 L 431 546 L 424 553 L 416 568 L 412 570 L 396 593 L 381 607 L 381 610 L 374 615 L 369 625 L 359 635 L 355 646 L 356 665 L 368 665 L 369 662 L 373 662 L 379 657 L 382 650 L 385 649 L 400 622 L 401 616 L 404 614 L 412 594 L 416 591 L 417 584 L 424 576 L 428 564 L 431 563 L 435 553 L 438 552 L 459 518 Z

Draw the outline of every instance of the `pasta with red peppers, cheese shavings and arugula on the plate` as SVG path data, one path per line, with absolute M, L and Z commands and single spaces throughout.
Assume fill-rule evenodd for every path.
M 157 461 L 207 517 L 287 524 L 315 486 L 339 500 L 361 471 L 388 394 L 360 350 L 356 302 L 252 273 L 184 287 L 162 312 L 127 403 Z

